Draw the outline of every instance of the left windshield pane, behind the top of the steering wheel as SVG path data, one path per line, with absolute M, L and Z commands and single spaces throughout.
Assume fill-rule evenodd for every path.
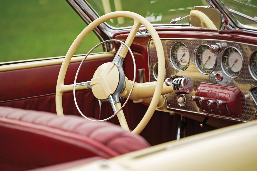
M 145 17 L 152 24 L 170 24 L 172 19 L 184 17 L 196 5 L 207 5 L 205 0 L 87 0 L 93 9 L 102 16 L 113 11 L 132 11 Z M 134 21 L 118 18 L 107 21 L 113 27 L 133 26 Z M 188 23 L 188 19 L 179 23 Z

